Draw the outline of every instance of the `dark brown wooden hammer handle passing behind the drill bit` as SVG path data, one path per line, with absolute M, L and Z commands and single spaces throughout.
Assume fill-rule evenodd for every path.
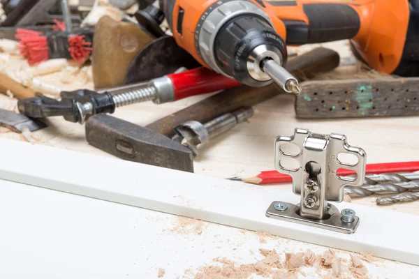
M 328 72 L 337 66 L 339 66 L 339 54 L 333 50 L 319 47 L 292 59 L 288 62 L 286 68 L 297 79 L 304 79 L 313 77 L 318 73 Z M 284 91 L 274 84 L 262 88 L 240 86 L 228 89 L 151 123 L 147 128 L 172 137 L 175 135 L 174 129 L 186 121 L 195 120 L 205 123 L 221 114 L 238 110 L 240 107 L 251 107 L 252 105 L 262 103 L 281 92 Z

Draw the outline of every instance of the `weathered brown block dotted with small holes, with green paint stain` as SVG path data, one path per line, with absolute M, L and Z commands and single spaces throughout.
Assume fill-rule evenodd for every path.
M 304 82 L 298 118 L 419 115 L 419 78 Z

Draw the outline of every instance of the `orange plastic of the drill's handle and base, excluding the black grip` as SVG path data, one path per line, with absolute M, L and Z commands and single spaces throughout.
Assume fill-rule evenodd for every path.
M 404 50 L 409 26 L 407 0 L 353 0 L 353 1 L 296 1 L 295 6 L 273 6 L 279 1 L 265 1 L 281 20 L 300 20 L 310 24 L 304 5 L 336 3 L 353 8 L 360 19 L 358 33 L 352 38 L 358 54 L 372 68 L 392 73 L 397 68 Z M 281 27 L 281 26 L 279 26 Z

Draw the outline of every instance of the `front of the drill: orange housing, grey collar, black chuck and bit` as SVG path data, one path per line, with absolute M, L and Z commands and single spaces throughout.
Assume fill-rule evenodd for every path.
M 263 4 L 243 0 L 182 3 L 186 2 L 161 0 L 177 43 L 200 63 L 251 87 L 276 82 L 284 91 L 299 92 L 297 80 L 278 68 L 286 65 L 286 44 Z M 267 60 L 275 65 L 264 68 Z

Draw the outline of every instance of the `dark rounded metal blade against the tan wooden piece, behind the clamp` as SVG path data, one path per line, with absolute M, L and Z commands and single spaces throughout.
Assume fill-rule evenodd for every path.
M 153 40 L 131 62 L 124 84 L 145 82 L 175 73 L 181 67 L 193 69 L 200 64 L 191 54 L 176 44 L 171 36 Z

